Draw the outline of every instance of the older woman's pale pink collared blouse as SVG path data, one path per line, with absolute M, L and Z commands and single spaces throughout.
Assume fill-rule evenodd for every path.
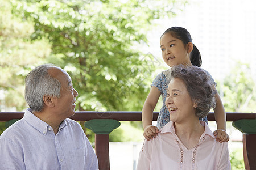
M 139 154 L 137 170 L 165 169 L 231 169 L 228 143 L 216 141 L 205 122 L 197 145 L 188 150 L 175 134 L 173 122 L 168 122 L 153 140 L 145 139 Z

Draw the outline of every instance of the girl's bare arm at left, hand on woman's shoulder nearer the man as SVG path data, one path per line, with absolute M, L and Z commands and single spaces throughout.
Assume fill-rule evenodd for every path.
M 142 123 L 144 128 L 143 135 L 147 140 L 153 139 L 153 137 L 156 137 L 156 134 L 158 134 L 158 128 L 156 128 L 156 126 L 152 126 L 152 120 L 153 111 L 155 109 L 155 105 L 158 103 L 160 95 L 161 92 L 158 88 L 152 86 L 142 108 Z

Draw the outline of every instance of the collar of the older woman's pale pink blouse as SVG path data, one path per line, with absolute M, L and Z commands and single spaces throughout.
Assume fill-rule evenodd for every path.
M 204 135 L 209 135 L 210 137 L 214 137 L 212 130 L 210 130 L 209 126 L 204 122 L 204 121 L 200 121 L 200 124 L 204 126 L 204 133 L 202 134 L 202 136 Z M 160 133 L 172 133 L 174 135 L 176 135 L 175 133 L 175 128 L 174 128 L 174 122 L 170 121 L 168 122 L 168 124 L 166 124 L 162 129 L 160 129 L 159 131 Z

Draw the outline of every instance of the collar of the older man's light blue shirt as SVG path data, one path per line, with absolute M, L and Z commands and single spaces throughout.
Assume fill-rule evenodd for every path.
M 52 130 L 52 127 L 49 126 L 46 122 L 40 120 L 40 118 L 36 117 L 30 108 L 26 109 L 24 116 L 24 120 L 28 122 L 31 126 L 33 126 L 36 130 L 40 131 L 40 133 L 46 135 L 47 129 L 50 131 Z M 62 121 L 60 124 L 59 129 L 62 129 L 66 126 L 66 120 Z

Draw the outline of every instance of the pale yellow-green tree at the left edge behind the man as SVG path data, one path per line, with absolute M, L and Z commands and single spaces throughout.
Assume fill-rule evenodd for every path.
M 0 106 L 21 110 L 26 105 L 24 76 L 49 56 L 51 45 L 44 37 L 31 41 L 34 23 L 13 15 L 9 1 L 1 1 L 0 11 L 0 91 L 5 94 Z

